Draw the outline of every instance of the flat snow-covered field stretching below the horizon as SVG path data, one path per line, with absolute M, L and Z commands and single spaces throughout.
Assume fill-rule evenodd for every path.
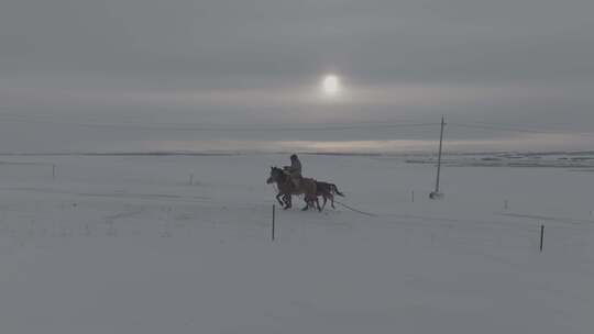
M 0 157 L 1 332 L 594 333 L 591 168 L 447 166 L 430 201 L 431 164 L 305 155 L 367 214 L 277 211 L 272 242 L 287 160 Z

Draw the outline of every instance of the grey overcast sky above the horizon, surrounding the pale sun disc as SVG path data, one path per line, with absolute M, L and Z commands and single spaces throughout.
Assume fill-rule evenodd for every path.
M 0 153 L 432 149 L 442 114 L 451 149 L 592 149 L 592 0 L 2 0 Z M 328 73 L 343 85 L 331 99 Z

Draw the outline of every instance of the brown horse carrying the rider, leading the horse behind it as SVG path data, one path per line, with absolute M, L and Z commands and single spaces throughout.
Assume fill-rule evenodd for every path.
M 280 205 L 284 205 L 284 209 L 290 208 L 290 203 L 284 203 L 280 200 L 280 197 L 292 196 L 292 194 L 304 194 L 306 207 L 301 209 L 306 211 L 309 208 L 318 208 L 321 211 L 320 202 L 318 201 L 316 181 L 314 179 L 302 178 L 299 181 L 299 187 L 295 189 L 290 177 L 285 174 L 285 171 L 278 167 L 271 167 L 271 176 L 266 180 L 266 183 L 276 183 L 278 188 L 278 194 L 276 194 L 276 200 Z

